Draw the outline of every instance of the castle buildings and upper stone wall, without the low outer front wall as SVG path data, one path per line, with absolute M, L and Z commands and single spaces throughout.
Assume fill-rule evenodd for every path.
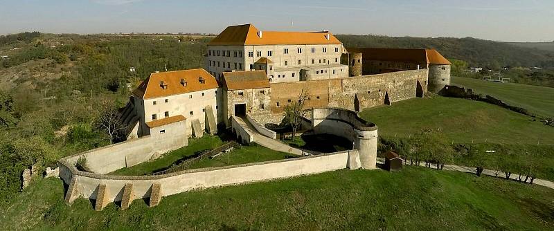
M 141 83 L 125 115 L 131 137 L 183 120 L 188 136 L 214 133 L 231 115 L 280 113 L 302 90 L 308 107 L 361 111 L 437 93 L 450 81 L 450 63 L 436 50 L 345 48 L 328 31 L 229 26 L 205 57 L 206 71 L 152 73 Z

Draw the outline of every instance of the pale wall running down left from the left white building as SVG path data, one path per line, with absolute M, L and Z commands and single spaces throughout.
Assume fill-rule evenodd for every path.
M 184 128 L 184 123 L 185 121 L 176 122 L 174 127 Z M 181 133 L 178 133 L 177 129 L 166 129 L 166 131 L 166 133 L 157 131 L 150 136 L 85 151 L 66 158 L 66 161 L 75 165 L 79 158 L 84 157 L 91 172 L 107 174 L 123 167 L 143 163 L 156 153 L 162 154 L 188 145 L 187 136 L 182 129 Z

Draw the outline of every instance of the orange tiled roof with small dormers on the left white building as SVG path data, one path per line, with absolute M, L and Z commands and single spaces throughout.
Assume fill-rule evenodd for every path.
M 199 81 L 202 77 L 204 83 Z M 181 84 L 181 79 L 186 82 L 186 86 Z M 161 86 L 166 86 L 163 89 Z M 215 77 L 210 75 L 202 68 L 182 70 L 182 71 L 167 71 L 160 73 L 152 73 L 146 78 L 139 87 L 133 91 L 133 95 L 143 99 L 159 98 L 168 95 L 178 95 L 195 91 L 204 91 L 208 89 L 217 89 L 218 84 Z

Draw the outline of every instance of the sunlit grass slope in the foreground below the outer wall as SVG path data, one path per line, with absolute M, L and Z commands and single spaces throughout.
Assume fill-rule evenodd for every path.
M 424 167 L 348 170 L 136 200 L 64 204 L 38 179 L 0 210 L 1 230 L 553 230 L 554 190 Z

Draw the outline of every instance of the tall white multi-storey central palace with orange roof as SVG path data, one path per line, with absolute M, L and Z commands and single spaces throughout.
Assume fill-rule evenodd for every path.
M 262 31 L 251 24 L 229 26 L 208 43 L 208 72 L 264 69 L 269 82 L 298 82 L 348 77 L 344 51 L 328 31 Z M 263 67 L 260 67 L 262 65 Z

